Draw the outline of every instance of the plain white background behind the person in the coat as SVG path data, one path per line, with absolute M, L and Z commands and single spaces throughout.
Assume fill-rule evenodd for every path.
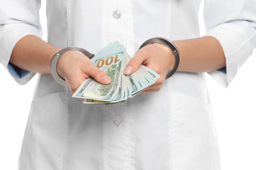
M 44 7 L 45 1 L 42 2 Z M 41 11 L 43 39 L 45 9 Z M 202 29 L 203 33 L 203 29 Z M 223 170 L 256 169 L 256 52 L 227 89 L 207 76 Z M 0 169 L 17 169 L 37 76 L 25 86 L 12 80 L 0 65 Z M 207 170 L 207 169 L 205 169 Z

